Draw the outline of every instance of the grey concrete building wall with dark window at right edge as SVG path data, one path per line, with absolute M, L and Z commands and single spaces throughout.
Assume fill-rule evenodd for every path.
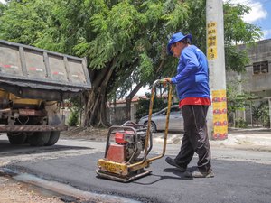
M 227 83 L 238 84 L 236 83 L 237 80 L 242 81 L 238 84 L 240 92 L 244 90 L 260 98 L 251 101 L 251 105 L 257 106 L 260 102 L 269 101 L 269 117 L 271 117 L 271 39 L 256 42 L 255 46 L 239 45 L 238 48 L 240 50 L 247 48 L 250 61 L 246 66 L 245 73 L 238 74 L 233 71 L 227 71 Z M 267 64 L 267 71 L 256 71 L 257 65 L 261 62 Z M 237 117 L 243 117 L 249 124 L 254 120 L 251 105 L 246 107 L 246 111 L 236 113 Z M 256 121 L 253 122 L 255 123 Z

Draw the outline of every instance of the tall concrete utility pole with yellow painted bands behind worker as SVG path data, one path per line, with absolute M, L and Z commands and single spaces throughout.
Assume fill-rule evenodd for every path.
M 222 0 L 206 1 L 206 30 L 212 98 L 207 117 L 208 133 L 212 139 L 223 140 L 228 138 L 228 119 Z

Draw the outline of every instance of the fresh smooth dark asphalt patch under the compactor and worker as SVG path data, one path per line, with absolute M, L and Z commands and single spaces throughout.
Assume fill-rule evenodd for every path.
M 103 153 L 43 161 L 23 161 L 8 168 L 28 172 L 46 180 L 102 194 L 113 194 L 142 202 L 270 203 L 270 165 L 245 161 L 212 160 L 214 178 L 185 179 L 164 158 L 154 161 L 153 171 L 139 180 L 121 183 L 99 179 L 97 161 Z M 192 165 L 197 159 L 193 158 Z

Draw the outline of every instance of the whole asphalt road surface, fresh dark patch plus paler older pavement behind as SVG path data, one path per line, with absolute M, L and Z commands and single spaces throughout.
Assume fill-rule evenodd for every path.
M 2 150 L 5 149 L 5 143 L 0 145 Z M 268 152 L 213 149 L 215 177 L 193 180 L 185 179 L 163 158 L 152 163 L 149 168 L 153 171 L 151 175 L 130 183 L 120 183 L 99 179 L 96 175 L 96 164 L 103 157 L 103 146 L 104 143 L 83 141 L 61 141 L 46 150 L 22 146 L 21 149 L 13 149 L 10 158 L 18 159 L 20 151 L 23 151 L 21 157 L 24 159 L 11 161 L 5 167 L 77 189 L 126 197 L 131 201 L 269 203 L 271 199 L 271 153 Z M 179 145 L 170 145 L 167 153 L 174 154 L 178 149 Z M 154 149 L 154 152 L 157 151 Z M 1 151 L 0 161 L 1 156 L 8 153 Z M 194 157 L 191 166 L 196 165 L 196 161 Z

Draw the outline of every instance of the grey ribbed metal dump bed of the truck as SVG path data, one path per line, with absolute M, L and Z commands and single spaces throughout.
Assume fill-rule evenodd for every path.
M 61 101 L 91 85 L 85 58 L 0 40 L 0 88 L 17 97 Z

